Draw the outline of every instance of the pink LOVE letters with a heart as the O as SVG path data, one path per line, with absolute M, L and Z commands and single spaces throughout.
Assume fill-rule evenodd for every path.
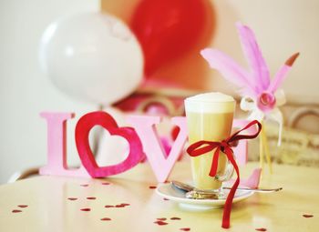
M 72 113 L 44 112 L 40 116 L 46 119 L 47 125 L 47 164 L 40 168 L 40 175 L 55 175 L 67 177 L 109 177 L 137 166 L 145 156 L 149 161 L 155 177 L 159 182 L 165 182 L 177 162 L 187 141 L 186 118 L 176 116 L 170 119 L 173 126 L 178 126 L 180 132 L 173 142 L 170 153 L 160 142 L 156 125 L 160 124 L 160 116 L 128 116 L 131 127 L 119 127 L 116 120 L 104 111 L 91 112 L 77 121 L 75 129 L 77 153 L 82 166 L 67 167 L 67 120 L 74 117 Z M 234 120 L 234 127 L 241 127 L 246 120 Z M 94 126 L 102 126 L 111 136 L 122 136 L 129 143 L 129 155 L 121 162 L 112 166 L 98 166 L 88 136 Z M 247 163 L 247 141 L 241 141 L 234 147 L 234 154 L 239 165 Z M 248 187 L 258 187 L 261 169 L 256 168 L 252 176 L 242 180 Z

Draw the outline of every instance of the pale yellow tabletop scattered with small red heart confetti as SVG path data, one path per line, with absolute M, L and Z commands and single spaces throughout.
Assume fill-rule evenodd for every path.
M 257 166 L 242 167 L 242 177 Z M 283 191 L 254 194 L 233 204 L 228 231 L 319 230 L 319 169 L 274 165 L 273 170 L 273 175 L 265 170 L 261 187 L 283 187 Z M 188 160 L 176 164 L 170 179 L 190 180 Z M 0 231 L 225 231 L 222 208 L 185 211 L 158 196 L 156 185 L 149 164 L 105 179 L 33 177 L 17 181 L 0 187 Z M 167 225 L 154 223 L 163 217 Z

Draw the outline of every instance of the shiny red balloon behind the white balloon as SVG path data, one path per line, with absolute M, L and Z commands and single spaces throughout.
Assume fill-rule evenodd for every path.
M 140 2 L 130 26 L 143 48 L 147 77 L 196 45 L 209 18 L 206 5 L 206 0 Z

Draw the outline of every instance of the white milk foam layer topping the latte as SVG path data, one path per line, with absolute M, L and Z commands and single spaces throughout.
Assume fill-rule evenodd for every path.
M 190 96 L 185 99 L 185 110 L 197 113 L 232 113 L 235 100 L 219 92 Z

